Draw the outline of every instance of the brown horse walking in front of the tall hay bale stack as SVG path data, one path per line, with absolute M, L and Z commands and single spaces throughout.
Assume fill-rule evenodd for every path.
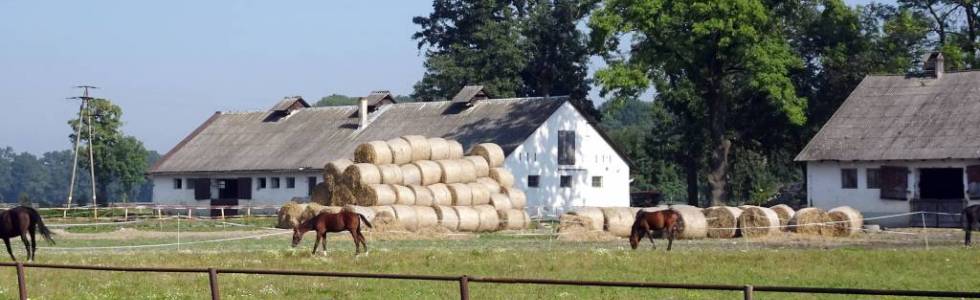
M 315 217 L 302 222 L 296 227 L 293 227 L 293 247 L 299 245 L 299 242 L 303 240 L 303 234 L 307 231 L 316 230 L 316 243 L 313 243 L 313 254 L 316 255 L 316 248 L 320 246 L 320 241 L 323 241 L 323 251 L 327 251 L 327 232 L 341 232 L 344 230 L 350 231 L 351 237 L 354 238 L 354 247 L 356 248 L 354 254 L 361 253 L 361 245 L 364 245 L 364 252 L 367 252 L 367 243 L 365 243 L 364 234 L 361 234 L 361 222 L 364 222 L 368 228 L 374 227 L 371 222 L 368 222 L 367 218 L 363 215 L 342 211 L 339 213 L 329 213 L 321 212 Z

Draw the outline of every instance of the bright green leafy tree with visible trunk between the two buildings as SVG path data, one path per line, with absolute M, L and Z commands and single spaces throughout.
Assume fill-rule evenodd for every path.
M 688 84 L 687 106 L 703 109 L 697 123 L 707 140 L 707 181 L 712 204 L 726 199 L 733 141 L 752 139 L 732 126 L 743 111 L 802 125 L 805 99 L 796 95 L 791 69 L 802 66 L 771 11 L 758 0 L 603 1 L 590 21 L 592 42 L 602 53 L 616 51 L 620 37 L 633 38 L 627 64 L 642 70 L 658 91 Z M 765 106 L 765 107 L 760 107 Z M 758 121 L 758 119 L 755 119 Z

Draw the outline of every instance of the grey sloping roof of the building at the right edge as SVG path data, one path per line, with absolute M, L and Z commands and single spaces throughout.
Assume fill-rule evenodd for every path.
M 868 76 L 797 161 L 980 158 L 980 71 Z

